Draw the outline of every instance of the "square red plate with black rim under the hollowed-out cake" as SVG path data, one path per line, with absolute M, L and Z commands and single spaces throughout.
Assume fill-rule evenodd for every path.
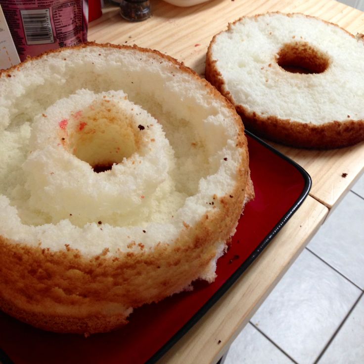
M 229 251 L 218 261 L 214 283 L 195 282 L 192 292 L 135 310 L 124 328 L 89 338 L 42 331 L 0 312 L 0 360 L 4 364 L 157 361 L 258 257 L 310 190 L 305 170 L 248 132 L 247 136 L 256 197 L 246 206 Z

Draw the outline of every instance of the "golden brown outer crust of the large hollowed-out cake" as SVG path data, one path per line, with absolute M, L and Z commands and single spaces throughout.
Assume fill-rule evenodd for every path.
M 239 130 L 237 146 L 243 149 L 244 157 L 237 169 L 234 190 L 220 198 L 216 208 L 202 216 L 196 225 L 185 225 L 179 238 L 171 244 L 160 242 L 151 250 L 139 245 L 140 251 L 131 246 L 129 252 L 119 251 L 115 255 L 106 249 L 100 255 L 85 257 L 73 249 L 69 241 L 65 241 L 64 250 L 52 251 L 42 248 L 42 242 L 31 247 L 0 237 L 0 309 L 34 326 L 56 332 L 109 331 L 127 322 L 129 308 L 158 302 L 186 288 L 208 270 L 217 255 L 218 244 L 230 238 L 242 211 L 246 190 L 248 199 L 254 194 L 241 119 L 215 88 L 174 58 L 157 51 L 89 45 L 153 53 L 198 79 L 231 110 Z M 56 52 L 62 51 L 48 53 Z M 22 64 L 12 67 L 1 76 L 21 67 Z

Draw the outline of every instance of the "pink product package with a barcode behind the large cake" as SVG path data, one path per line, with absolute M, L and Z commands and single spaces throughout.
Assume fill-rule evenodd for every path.
M 87 42 L 87 0 L 0 0 L 21 60 Z

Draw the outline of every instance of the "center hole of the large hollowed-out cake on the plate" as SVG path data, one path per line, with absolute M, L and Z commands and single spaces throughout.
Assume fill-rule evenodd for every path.
M 112 101 L 94 102 L 72 117 L 68 149 L 96 173 L 112 169 L 140 150 L 141 131 L 133 116 Z

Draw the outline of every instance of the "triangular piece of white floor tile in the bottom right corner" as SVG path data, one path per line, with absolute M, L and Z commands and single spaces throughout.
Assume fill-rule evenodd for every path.
M 364 297 L 351 312 L 319 364 L 364 363 Z

